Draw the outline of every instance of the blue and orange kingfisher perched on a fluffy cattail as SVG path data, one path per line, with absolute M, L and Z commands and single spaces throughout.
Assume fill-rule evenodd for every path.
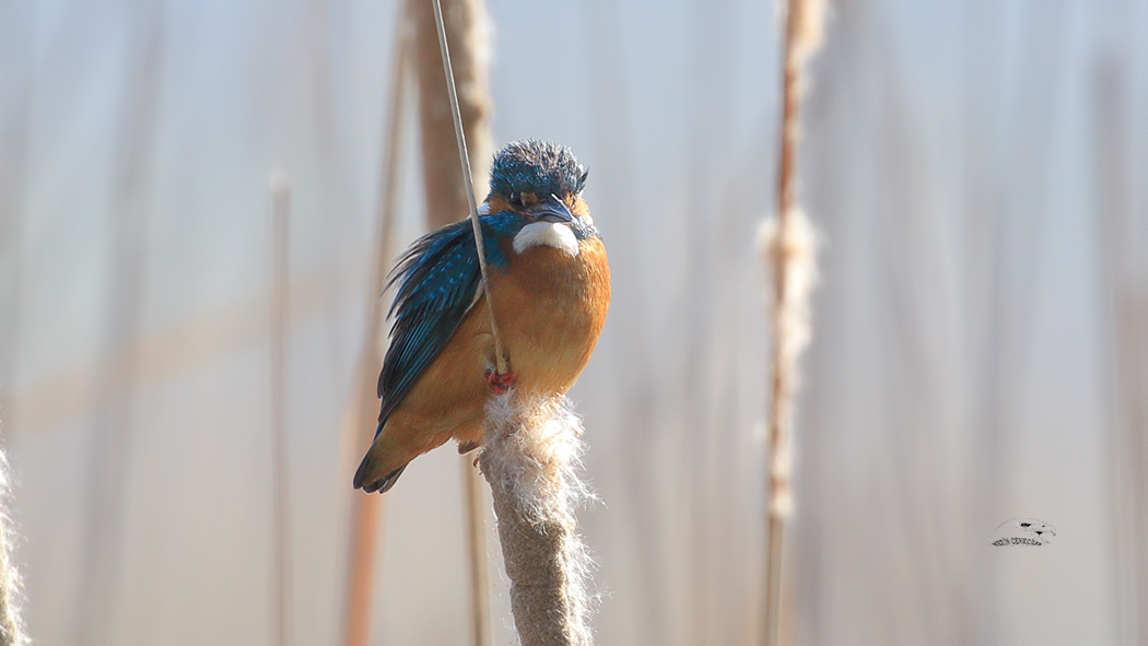
M 487 399 L 564 395 L 594 351 L 610 308 L 610 265 L 582 199 L 587 170 L 569 148 L 518 141 L 490 168 L 479 205 L 489 298 L 470 220 L 417 240 L 390 274 L 390 347 L 379 374 L 379 426 L 355 488 L 386 492 L 406 465 L 453 438 L 482 443 Z

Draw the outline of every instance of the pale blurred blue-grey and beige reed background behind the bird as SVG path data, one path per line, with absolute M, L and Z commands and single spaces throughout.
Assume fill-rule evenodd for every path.
M 605 500 L 582 515 L 598 640 L 753 644 L 775 7 L 488 7 L 494 143 L 571 146 L 611 252 L 573 391 Z M 397 16 L 0 0 L 0 422 L 37 643 L 271 639 L 277 170 L 292 632 L 341 640 Z M 1148 643 L 1148 5 L 839 0 L 810 73 L 799 194 L 824 248 L 784 637 Z M 405 244 L 414 119 L 400 157 Z M 460 475 L 444 447 L 388 495 L 372 644 L 467 643 Z M 1017 516 L 1055 543 L 988 547 Z

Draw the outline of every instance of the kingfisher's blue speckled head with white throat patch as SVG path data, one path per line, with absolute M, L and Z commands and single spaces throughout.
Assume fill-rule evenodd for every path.
M 579 241 L 598 235 L 582 200 L 585 179 L 587 170 L 569 148 L 515 141 L 495 155 L 483 207 L 489 215 L 507 218 L 517 252 L 549 246 L 576 256 Z

